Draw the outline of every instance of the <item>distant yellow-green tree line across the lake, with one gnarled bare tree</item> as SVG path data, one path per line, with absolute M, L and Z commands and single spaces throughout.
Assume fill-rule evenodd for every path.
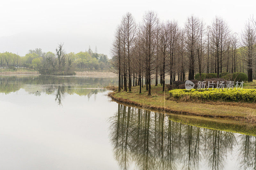
M 39 71 L 42 71 L 42 69 L 53 71 L 57 67 L 66 70 L 67 68 L 64 67 L 68 67 L 68 63 L 70 65 L 69 69 L 72 71 L 107 70 L 109 67 L 108 56 L 97 53 L 97 48 L 95 48 L 95 52 L 89 47 L 89 50 L 85 52 L 65 53 L 62 46 L 63 44 L 60 44 L 55 53 L 45 53 L 41 48 L 29 50 L 25 56 L 10 52 L 0 53 L 0 67 L 10 69 L 27 68 Z

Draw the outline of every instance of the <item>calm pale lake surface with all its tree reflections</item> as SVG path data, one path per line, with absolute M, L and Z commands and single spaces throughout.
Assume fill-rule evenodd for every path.
M 0 169 L 255 169 L 255 126 L 111 102 L 116 83 L 0 76 Z

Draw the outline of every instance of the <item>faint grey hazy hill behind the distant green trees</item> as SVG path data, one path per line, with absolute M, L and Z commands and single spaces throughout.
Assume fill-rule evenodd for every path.
M 9 51 L 24 56 L 30 49 L 35 48 L 41 48 L 44 52 L 55 53 L 58 43 L 64 43 L 63 48 L 67 53 L 87 51 L 89 46 L 92 51 L 95 51 L 97 46 L 98 53 L 108 54 L 108 49 L 104 49 L 104 46 L 108 44 L 107 37 L 57 32 L 21 32 L 0 37 L 0 53 Z M 103 48 L 101 49 L 101 47 Z

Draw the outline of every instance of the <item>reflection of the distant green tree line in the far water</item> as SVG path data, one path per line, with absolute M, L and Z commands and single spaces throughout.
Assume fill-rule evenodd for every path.
M 107 90 L 100 87 L 106 86 L 107 83 L 114 84 L 115 81 L 113 78 L 74 76 L 0 76 L 0 94 L 9 94 L 24 89 L 29 94 L 36 96 L 40 96 L 41 93 L 54 95 L 55 101 L 61 104 L 66 94 L 87 96 L 90 99 L 92 95 Z

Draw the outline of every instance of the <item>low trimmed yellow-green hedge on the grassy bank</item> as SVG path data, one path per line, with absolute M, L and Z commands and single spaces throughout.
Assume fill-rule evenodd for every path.
M 256 89 L 174 89 L 169 92 L 177 99 L 256 101 Z

